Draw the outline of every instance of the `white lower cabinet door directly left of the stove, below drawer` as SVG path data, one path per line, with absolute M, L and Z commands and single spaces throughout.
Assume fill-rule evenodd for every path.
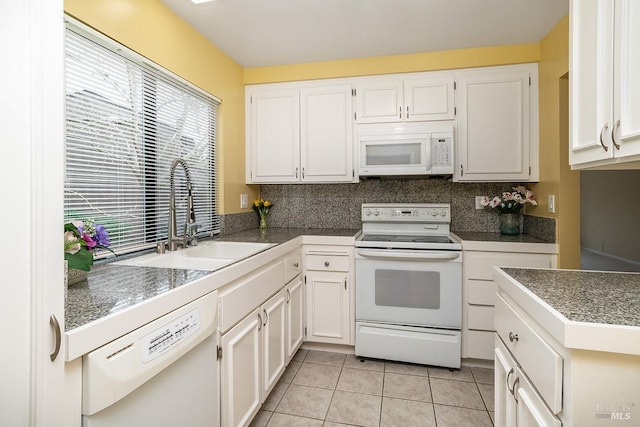
M 307 340 L 349 344 L 349 284 L 344 273 L 307 273 Z

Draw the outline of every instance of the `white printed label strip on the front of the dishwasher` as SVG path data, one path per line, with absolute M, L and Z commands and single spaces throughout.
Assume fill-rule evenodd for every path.
M 142 363 L 163 355 L 200 329 L 200 312 L 196 308 L 173 319 L 161 328 L 138 340 Z

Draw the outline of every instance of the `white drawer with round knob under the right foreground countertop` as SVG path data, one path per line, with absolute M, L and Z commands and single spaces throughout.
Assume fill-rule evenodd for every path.
M 498 336 L 554 414 L 562 410 L 562 357 L 531 326 L 524 316 L 500 295 L 496 297 L 495 325 Z M 511 336 L 511 339 L 509 338 Z

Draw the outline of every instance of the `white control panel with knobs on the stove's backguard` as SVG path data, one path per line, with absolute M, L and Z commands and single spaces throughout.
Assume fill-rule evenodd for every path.
M 450 223 L 448 203 L 363 203 L 362 222 Z

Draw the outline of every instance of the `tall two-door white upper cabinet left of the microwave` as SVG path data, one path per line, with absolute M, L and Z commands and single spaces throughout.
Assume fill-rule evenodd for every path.
M 247 183 L 353 182 L 350 85 L 247 87 Z

